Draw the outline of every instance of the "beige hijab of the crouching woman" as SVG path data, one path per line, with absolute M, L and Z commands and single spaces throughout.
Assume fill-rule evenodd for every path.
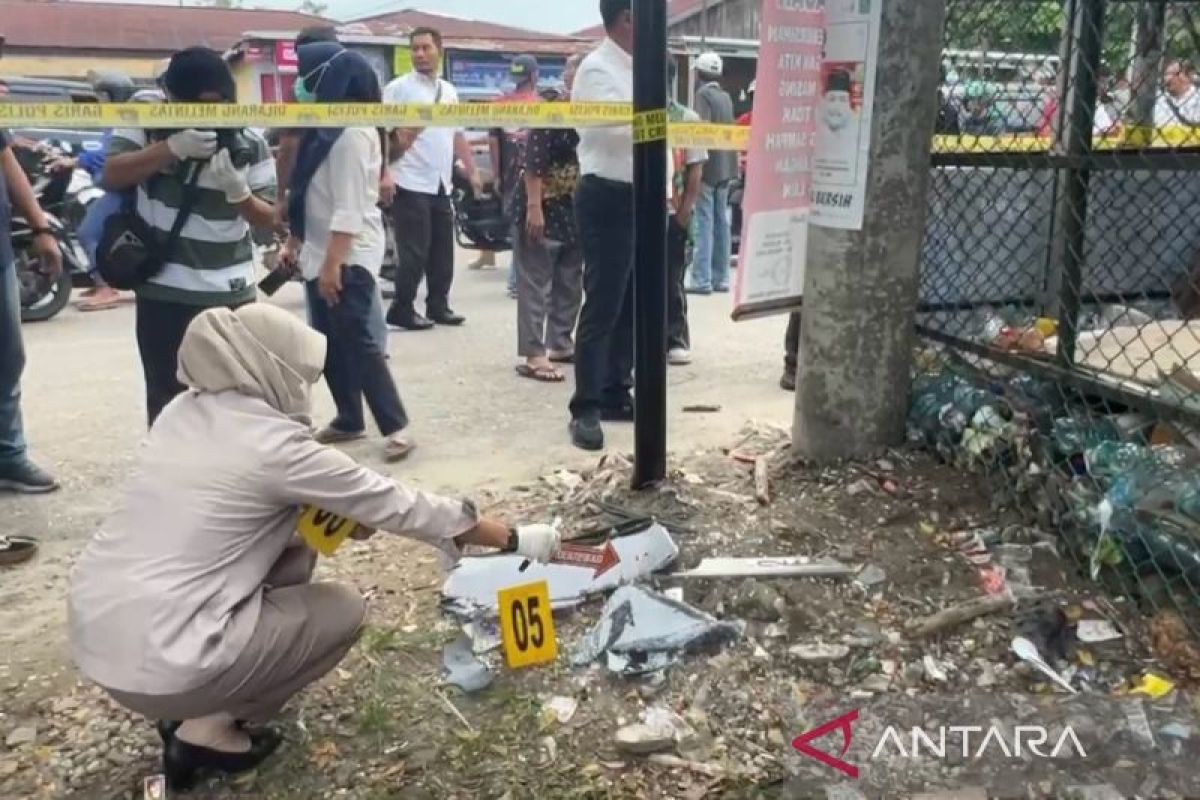
M 258 397 L 311 421 L 312 385 L 325 365 L 325 337 L 264 303 L 211 308 L 192 320 L 179 348 L 179 379 L 202 392 Z

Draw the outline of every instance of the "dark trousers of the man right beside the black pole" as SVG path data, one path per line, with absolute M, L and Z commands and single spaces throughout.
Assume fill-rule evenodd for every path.
M 583 311 L 575 333 L 571 416 L 630 402 L 634 385 L 634 188 L 587 175 L 575 196 L 583 246 Z

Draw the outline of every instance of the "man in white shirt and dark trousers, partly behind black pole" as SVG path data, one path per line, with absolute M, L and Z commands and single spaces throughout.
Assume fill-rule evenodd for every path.
M 600 0 L 607 36 L 580 65 L 571 100 L 634 100 L 630 0 Z M 571 441 L 604 449 L 600 421 L 632 422 L 634 136 L 630 126 L 580 131 L 575 210 L 583 245 L 583 311 L 575 335 Z M 665 207 L 665 206 L 664 206 Z

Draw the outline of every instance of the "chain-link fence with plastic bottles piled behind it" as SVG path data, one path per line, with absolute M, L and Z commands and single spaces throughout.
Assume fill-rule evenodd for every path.
M 1200 628 L 1200 2 L 949 0 L 913 429 Z

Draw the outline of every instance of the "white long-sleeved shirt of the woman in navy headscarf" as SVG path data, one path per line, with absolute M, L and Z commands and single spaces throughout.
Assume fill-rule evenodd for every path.
M 305 241 L 300 272 L 314 281 L 325 263 L 331 233 L 353 234 L 347 265 L 378 277 L 386 251 L 379 211 L 383 146 L 374 128 L 346 128 L 317 168 L 305 199 Z

